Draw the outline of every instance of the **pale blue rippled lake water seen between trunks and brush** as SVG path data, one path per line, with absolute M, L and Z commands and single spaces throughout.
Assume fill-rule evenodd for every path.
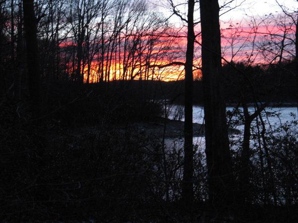
M 175 118 L 179 117 L 181 121 L 184 121 L 183 110 L 181 108 L 183 108 L 183 107 L 182 106 L 173 107 L 171 109 L 171 112 L 169 112 L 168 117 L 171 119 L 175 119 Z M 234 111 L 234 109 L 235 108 L 233 108 L 233 107 L 228 107 L 227 111 L 232 112 L 232 111 Z M 180 114 L 180 115 L 175 114 L 175 112 L 177 112 L 177 111 L 179 111 L 179 112 L 182 111 L 182 114 Z M 241 115 L 241 112 L 243 112 L 243 109 L 239 108 L 239 111 L 240 111 L 240 115 Z M 255 110 L 253 107 L 249 108 L 250 113 L 253 113 L 254 111 Z M 272 133 L 274 135 L 277 135 L 277 134 L 282 135 L 282 134 L 287 134 L 287 131 L 290 132 L 292 130 L 298 132 L 298 129 L 297 129 L 298 128 L 297 127 L 298 126 L 298 123 L 297 123 L 298 122 L 298 112 L 297 112 L 296 107 L 281 107 L 281 108 L 269 107 L 269 108 L 266 108 L 265 111 L 261 112 L 261 116 L 265 123 L 266 132 L 268 132 L 270 134 Z M 235 135 L 229 135 L 230 150 L 235 152 L 235 153 L 231 153 L 231 155 L 234 154 L 233 158 L 235 158 L 235 161 L 237 161 L 236 160 L 237 156 L 240 155 L 241 143 L 243 142 L 243 128 L 244 128 L 244 126 L 243 126 L 243 123 L 237 122 L 238 119 L 239 119 L 239 116 L 233 116 L 231 118 L 231 121 L 232 122 L 234 121 L 233 128 L 239 129 L 241 133 L 235 134 Z M 252 134 L 254 134 L 254 133 L 257 134 L 257 132 L 258 132 L 257 123 L 259 123 L 259 121 L 260 121 L 260 118 L 258 117 L 251 123 L 251 133 Z M 193 107 L 193 122 L 199 123 L 199 124 L 204 123 L 204 109 L 201 106 Z M 260 125 L 259 125 L 259 127 L 262 128 Z M 292 134 L 295 134 L 295 133 L 292 132 Z M 294 136 L 296 136 L 296 135 L 294 135 Z M 256 137 L 256 139 L 257 139 L 257 137 Z M 204 181 L 204 180 L 206 180 L 206 178 L 202 177 L 202 172 L 206 171 L 206 167 L 207 167 L 207 160 L 206 160 L 206 154 L 205 154 L 205 137 L 204 136 L 203 137 L 194 137 L 193 143 L 194 143 L 194 145 L 196 145 L 196 147 L 195 147 L 196 154 L 194 156 L 194 160 L 196 162 L 195 163 L 196 165 L 194 165 L 194 167 L 195 167 L 194 177 L 196 177 L 196 179 L 203 180 L 203 181 L 200 181 L 201 183 L 202 182 L 203 183 L 202 183 L 202 186 L 199 188 L 206 188 L 207 183 L 206 183 L 206 181 Z M 255 188 L 262 188 L 263 187 L 262 182 L 265 182 L 265 184 L 266 184 L 266 182 L 269 180 L 269 178 L 268 178 L 269 175 L 268 174 L 266 175 L 264 173 L 264 170 L 261 167 L 260 161 L 262 160 L 262 163 L 265 164 L 263 166 L 263 168 L 265 168 L 265 170 L 269 169 L 269 168 L 267 168 L 268 165 L 266 163 L 266 159 L 264 159 L 265 156 L 260 155 L 259 152 L 255 152 L 255 151 L 261 150 L 261 148 L 259 148 L 259 146 L 261 146 L 261 145 L 258 144 L 258 140 L 255 140 L 254 137 L 251 137 L 250 143 L 251 143 L 251 148 L 255 148 L 255 150 L 252 150 L 254 152 L 250 157 L 250 160 L 252 162 L 252 167 L 253 167 L 251 170 L 251 173 L 253 174 L 253 178 L 250 179 L 251 184 L 254 185 Z M 166 139 L 165 145 L 166 145 L 167 151 L 169 151 L 169 152 L 172 152 L 175 150 L 181 151 L 181 149 L 183 151 L 184 141 L 183 141 L 183 139 Z M 268 145 L 269 145 L 269 141 L 268 141 Z M 276 186 L 276 193 L 278 194 L 278 202 L 280 204 L 286 204 L 287 200 L 285 198 L 285 195 L 287 195 L 287 193 L 286 193 L 283 185 L 288 184 L 287 176 L 288 176 L 289 172 L 291 172 L 288 167 L 285 167 L 287 165 L 284 165 L 282 163 L 281 159 L 283 159 L 283 157 L 285 157 L 287 160 L 289 160 L 289 162 L 292 162 L 289 164 L 290 165 L 293 164 L 293 166 L 295 167 L 295 159 L 294 159 L 295 155 L 294 156 L 291 155 L 294 153 L 293 152 L 291 153 L 291 151 L 288 151 L 287 149 L 284 151 L 287 151 L 288 154 L 290 154 L 290 155 L 287 155 L 287 153 L 286 153 L 286 155 L 284 155 L 283 152 L 281 152 L 282 158 L 280 158 L 278 156 L 275 156 L 274 153 L 271 154 L 272 159 L 274 159 L 274 162 L 272 163 L 273 164 L 272 168 L 275 171 L 275 173 L 274 173 L 275 180 L 278 185 L 278 186 Z M 171 153 L 169 153 L 169 154 L 171 154 Z M 183 156 L 183 153 L 182 153 L 182 156 Z M 181 157 L 181 159 L 182 159 L 182 157 Z M 235 163 L 235 164 L 238 165 L 239 163 Z M 196 167 L 197 167 L 197 169 L 196 169 Z M 201 167 L 205 167 L 205 170 Z M 235 167 L 236 170 L 239 170 L 238 168 L 239 167 L 237 167 L 237 166 Z M 176 178 L 181 179 L 182 175 L 183 175 L 183 172 L 180 169 L 179 171 L 177 171 Z M 289 181 L 289 182 L 292 182 L 292 181 Z M 292 185 L 292 184 L 290 184 L 290 185 Z M 295 189 L 293 189 L 293 191 L 295 191 Z M 252 193 L 258 193 L 257 197 L 259 197 L 259 199 L 256 198 L 255 202 L 259 202 L 259 203 L 263 202 L 263 200 L 262 200 L 263 194 L 262 194 L 261 190 L 259 192 L 252 191 Z M 270 192 L 267 191 L 266 193 L 268 196 L 271 196 Z M 273 202 L 272 197 L 271 197 L 271 199 Z

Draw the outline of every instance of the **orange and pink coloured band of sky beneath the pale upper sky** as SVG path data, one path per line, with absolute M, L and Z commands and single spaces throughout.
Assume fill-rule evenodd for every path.
M 295 39 L 295 32 L 291 24 L 281 26 L 274 23 L 250 24 L 235 21 L 222 23 L 221 27 L 223 62 L 266 64 L 276 62 L 272 58 L 278 58 L 281 54 L 283 57 L 293 56 L 291 39 Z M 200 33 L 200 27 L 197 27 L 196 33 Z M 87 55 L 87 51 L 92 55 L 82 58 L 80 62 L 80 72 L 84 82 L 183 79 L 186 33 L 185 30 L 177 29 L 171 30 L 170 34 L 123 35 L 117 41 L 105 40 L 103 48 L 101 42 L 92 43 L 93 46 L 97 45 L 94 49 L 90 47 L 90 43 L 83 43 L 82 55 Z M 285 39 L 286 35 L 287 39 Z M 200 35 L 197 36 L 196 41 L 194 78 L 200 79 L 201 74 L 198 73 L 201 68 Z M 286 46 L 283 52 L 281 52 L 282 44 Z M 60 48 L 75 51 L 77 44 L 72 41 L 62 42 Z M 77 54 L 78 52 L 74 52 L 73 58 L 69 56 L 68 62 L 64 64 L 69 76 L 74 76 L 76 73 Z

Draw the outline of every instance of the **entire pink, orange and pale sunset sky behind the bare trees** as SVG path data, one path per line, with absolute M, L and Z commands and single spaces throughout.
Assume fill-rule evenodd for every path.
M 41 19 L 38 27 L 38 37 L 44 44 L 41 48 L 46 55 L 51 51 L 48 41 L 60 46 L 61 53 L 54 57 L 72 79 L 78 78 L 74 77 L 76 73 L 91 82 L 184 78 L 187 24 L 173 15 L 171 1 L 186 20 L 187 0 L 57 0 L 59 4 L 53 5 L 52 1 L 36 1 L 40 5 L 37 17 Z M 15 4 L 12 14 L 17 15 L 17 2 L 11 2 Z M 219 3 L 225 5 L 220 11 L 223 62 L 266 65 L 293 58 L 298 0 L 219 0 Z M 8 1 L 2 4 L 8 12 L 13 8 Z M 294 21 L 282 8 L 287 13 L 294 12 Z M 196 73 L 201 68 L 199 9 L 196 0 Z M 13 34 L 14 41 L 18 23 L 21 20 L 15 18 L 11 27 L 7 16 L 3 25 L 7 36 Z

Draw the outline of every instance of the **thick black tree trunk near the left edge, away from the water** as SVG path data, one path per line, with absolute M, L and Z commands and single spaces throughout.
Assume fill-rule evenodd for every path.
M 40 117 L 40 73 L 37 44 L 37 19 L 33 0 L 23 0 L 24 27 L 27 47 L 28 82 L 31 99 L 32 118 Z

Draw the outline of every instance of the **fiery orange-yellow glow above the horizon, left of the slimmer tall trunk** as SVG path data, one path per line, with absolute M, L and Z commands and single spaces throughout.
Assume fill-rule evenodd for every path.
M 173 81 L 184 78 L 185 39 L 172 37 L 128 38 L 124 43 L 98 51 L 86 62 L 82 61 L 80 70 L 84 82 L 118 80 L 162 80 Z M 127 44 L 127 45 L 125 45 Z M 61 45 L 64 48 L 71 44 Z M 73 73 L 77 62 L 73 66 Z

